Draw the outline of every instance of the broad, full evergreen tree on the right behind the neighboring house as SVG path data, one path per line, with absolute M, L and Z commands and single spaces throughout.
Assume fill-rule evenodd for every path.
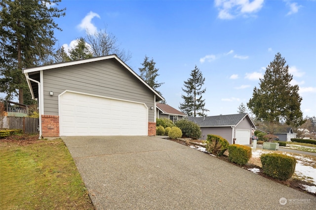
M 288 72 L 286 61 L 277 53 L 268 65 L 260 88 L 254 88 L 247 106 L 260 120 L 268 121 L 270 133 L 274 124 L 285 120 L 286 124 L 298 127 L 304 123 L 298 85 L 292 86 L 293 76 Z

